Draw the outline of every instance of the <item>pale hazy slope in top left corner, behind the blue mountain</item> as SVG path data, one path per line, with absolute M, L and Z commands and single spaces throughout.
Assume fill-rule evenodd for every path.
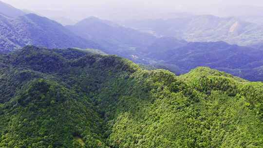
M 8 17 L 19 17 L 25 15 L 25 13 L 7 3 L 0 1 L 0 14 L 8 16 Z

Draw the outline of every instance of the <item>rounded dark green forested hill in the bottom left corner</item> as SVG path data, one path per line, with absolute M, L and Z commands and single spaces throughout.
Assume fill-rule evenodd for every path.
M 44 79 L 25 88 L 3 107 L 1 148 L 73 148 L 80 139 L 86 147 L 96 148 L 103 121 L 90 99 Z

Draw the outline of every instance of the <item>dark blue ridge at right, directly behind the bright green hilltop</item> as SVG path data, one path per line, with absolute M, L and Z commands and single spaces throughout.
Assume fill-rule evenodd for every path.
M 189 42 L 182 47 L 169 48 L 167 51 L 152 53 L 144 58 L 155 59 L 155 62 L 164 66 L 173 66 L 176 74 L 184 74 L 196 67 L 207 66 L 251 81 L 263 81 L 261 71 L 258 70 L 263 66 L 263 50 L 230 45 L 222 41 Z M 170 70 L 173 71 L 173 68 Z

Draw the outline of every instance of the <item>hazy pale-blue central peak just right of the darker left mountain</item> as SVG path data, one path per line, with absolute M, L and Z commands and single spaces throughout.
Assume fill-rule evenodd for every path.
M 80 37 L 99 43 L 104 49 L 107 49 L 107 53 L 127 58 L 131 57 L 132 53 L 145 50 L 156 39 L 150 34 L 95 17 L 66 27 Z

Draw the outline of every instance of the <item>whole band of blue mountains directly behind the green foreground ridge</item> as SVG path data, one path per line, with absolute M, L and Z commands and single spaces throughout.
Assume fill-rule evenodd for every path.
M 188 15 L 184 19 L 188 21 L 189 17 L 191 16 Z M 182 16 L 173 20 L 177 19 L 184 21 Z M 253 48 L 250 48 L 222 41 L 188 42 L 169 35 L 153 36 L 95 17 L 65 27 L 34 14 L 16 18 L 2 15 L 0 20 L 0 49 L 5 53 L 26 45 L 47 48 L 95 48 L 110 55 L 129 58 L 136 63 L 167 69 L 175 74 L 185 74 L 198 66 L 208 66 L 251 81 L 263 81 L 261 43 L 251 45 Z M 215 21 L 216 23 L 218 22 Z M 168 24 L 166 25 L 169 26 Z M 180 24 L 177 25 L 180 28 Z M 163 29 L 165 28 L 169 27 Z

